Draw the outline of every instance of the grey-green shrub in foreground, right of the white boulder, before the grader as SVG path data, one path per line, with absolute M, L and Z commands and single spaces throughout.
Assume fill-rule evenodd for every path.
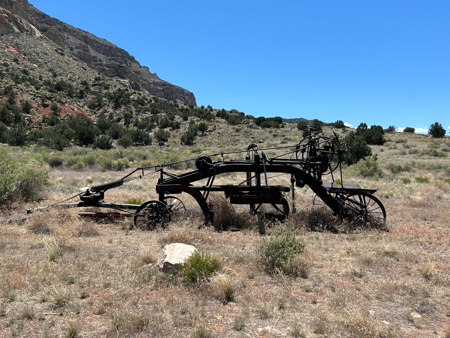
M 305 251 L 306 242 L 296 232 L 278 225 L 270 237 L 263 238 L 257 248 L 262 262 L 270 273 L 289 273 L 291 261 Z

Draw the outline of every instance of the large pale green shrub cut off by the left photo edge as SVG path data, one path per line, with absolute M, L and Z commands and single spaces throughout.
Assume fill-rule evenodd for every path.
M 34 200 L 47 185 L 48 170 L 42 168 L 38 161 L 30 158 L 18 160 L 6 149 L 0 149 L 0 204 L 14 197 Z

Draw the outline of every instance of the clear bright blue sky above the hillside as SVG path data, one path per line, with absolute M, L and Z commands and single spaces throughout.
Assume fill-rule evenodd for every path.
M 31 3 L 127 50 L 198 105 L 450 127 L 449 1 Z

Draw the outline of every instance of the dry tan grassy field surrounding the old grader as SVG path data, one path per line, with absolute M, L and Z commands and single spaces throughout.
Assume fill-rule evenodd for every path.
M 246 209 L 232 210 L 220 196 L 214 196 L 220 206 L 217 219 L 240 231 L 202 227 L 199 207 L 184 194 L 185 217 L 165 230 L 129 230 L 129 220 L 79 219 L 80 210 L 50 210 L 23 224 L 7 222 L 23 216 L 28 207 L 123 177 L 130 170 L 126 167 L 242 150 L 256 140 L 266 147 L 301 138 L 294 125 L 250 129 L 226 126 L 221 119 L 211 124 L 216 130 L 197 137 L 194 146 L 180 146 L 174 136 L 166 146 L 126 150 L 78 148 L 51 154 L 36 146 L 10 148 L 19 158 L 49 163 L 58 156 L 63 164 L 49 167 L 53 185 L 41 201 L 16 201 L 2 212 L 0 336 L 450 337 L 449 138 L 386 134 L 387 143 L 372 146 L 382 178 L 344 169 L 344 182 L 378 189 L 375 195 L 387 210 L 382 230 L 344 232 L 345 225 L 328 211 L 311 207 L 309 188 L 296 188 L 298 212 L 285 226 L 299 230 L 306 241 L 296 260 L 298 277 L 268 273 L 257 248 L 270 236 L 258 233 L 258 222 Z M 325 129 L 324 135 L 331 135 Z M 348 128 L 339 132 L 343 136 Z M 94 160 L 85 160 L 87 156 Z M 104 157 L 112 159 L 116 170 L 102 171 Z M 126 163 L 118 168 L 121 159 Z M 74 166 L 79 160 L 83 165 Z M 172 170 L 190 168 L 183 164 Z M 240 179 L 229 174 L 216 182 Z M 153 176 L 135 180 L 108 191 L 105 199 L 155 199 L 155 183 Z M 288 185 L 289 177 L 270 183 Z M 320 231 L 321 225 L 339 231 Z M 172 242 L 216 255 L 224 269 L 193 285 L 163 274 L 154 263 L 162 247 Z

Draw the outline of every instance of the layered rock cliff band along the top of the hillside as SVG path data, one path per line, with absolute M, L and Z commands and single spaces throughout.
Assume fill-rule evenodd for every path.
M 192 92 L 160 79 L 148 67 L 141 66 L 126 50 L 49 17 L 27 0 L 0 0 L 0 35 L 18 31 L 36 36 L 43 34 L 60 46 L 64 53 L 117 79 L 124 86 L 168 100 L 178 99 L 196 105 Z

